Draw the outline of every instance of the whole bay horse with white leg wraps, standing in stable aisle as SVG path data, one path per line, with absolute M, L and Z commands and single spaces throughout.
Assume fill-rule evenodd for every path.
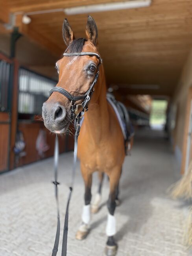
M 63 58 L 56 63 L 59 82 L 55 88 L 61 87 L 73 96 L 85 95 L 94 81 L 96 72 L 99 71 L 94 93 L 89 102 L 89 110 L 84 115 L 79 134 L 78 158 L 85 182 L 85 205 L 76 238 L 84 239 L 90 230 L 92 174 L 98 171 L 101 188 L 103 173 L 105 173 L 109 177 L 110 184 L 105 254 L 111 256 L 117 251 L 114 240 L 116 234 L 114 211 L 118 202 L 118 184 L 125 158 L 124 137 L 116 114 L 106 99 L 105 74 L 103 65 L 100 65 L 100 58 L 97 57 L 100 56 L 98 31 L 94 19 L 90 16 L 87 20 L 86 36 L 86 39 L 75 39 L 67 19 L 64 20 L 63 39 L 67 46 L 65 53 L 69 53 L 69 56 L 64 53 Z M 85 55 L 71 56 L 70 53 L 85 53 Z M 72 122 L 71 107 L 67 97 L 54 91 L 42 106 L 42 117 L 46 128 L 56 134 L 67 132 Z M 101 189 L 93 202 L 92 212 L 98 210 L 100 199 Z

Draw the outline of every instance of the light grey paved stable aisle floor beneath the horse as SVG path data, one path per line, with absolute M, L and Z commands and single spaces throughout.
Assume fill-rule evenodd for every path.
M 61 234 L 72 157 L 70 152 L 59 158 Z M 51 255 L 57 221 L 54 185 L 50 182 L 52 165 L 50 158 L 0 176 L 0 256 Z M 162 132 L 138 132 L 132 155 L 124 163 L 120 184 L 122 204 L 116 209 L 117 256 L 191 255 L 182 244 L 186 206 L 166 196 L 166 189 L 178 178 L 177 163 Z M 92 194 L 96 184 L 95 175 Z M 83 193 L 78 168 L 70 204 L 67 255 L 100 256 L 106 242 L 107 179 L 102 208 L 92 216 L 92 230 L 87 239 L 76 241 Z

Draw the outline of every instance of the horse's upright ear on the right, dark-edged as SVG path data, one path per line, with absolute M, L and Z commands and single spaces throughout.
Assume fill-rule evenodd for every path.
M 86 35 L 87 35 L 87 39 L 93 45 L 97 46 L 97 43 L 98 43 L 97 25 L 91 16 L 88 16 L 88 19 L 87 19 Z

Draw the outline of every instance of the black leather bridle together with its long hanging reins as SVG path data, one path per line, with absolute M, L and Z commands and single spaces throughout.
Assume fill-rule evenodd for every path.
M 67 200 L 67 205 L 66 205 L 66 212 L 65 212 L 65 222 L 64 222 L 64 228 L 63 228 L 63 242 L 62 242 L 62 252 L 61 256 L 66 256 L 66 251 L 67 251 L 67 235 L 68 235 L 68 209 L 69 209 L 69 203 L 70 203 L 70 198 L 73 190 L 73 185 L 74 185 L 74 178 L 75 178 L 75 172 L 76 172 L 76 161 L 77 161 L 77 150 L 78 150 L 78 136 L 80 132 L 80 121 L 82 117 L 82 110 L 84 109 L 84 112 L 88 110 L 88 104 L 90 101 L 90 98 L 92 96 L 92 93 L 94 92 L 94 85 L 96 84 L 99 76 L 99 68 L 100 64 L 102 63 L 102 58 L 100 57 L 99 54 L 95 52 L 75 52 L 75 53 L 64 53 L 64 56 L 96 56 L 99 59 L 99 64 L 96 70 L 96 74 L 94 77 L 93 82 L 90 84 L 89 90 L 85 93 L 85 95 L 82 96 L 73 96 L 71 95 L 68 91 L 61 87 L 54 87 L 50 91 L 50 96 L 52 95 L 53 92 L 58 92 L 67 97 L 69 100 L 71 100 L 71 113 L 72 113 L 72 119 L 76 120 L 76 132 L 74 135 L 74 161 L 73 161 L 73 167 L 72 167 L 72 179 L 71 179 L 71 184 L 69 187 L 69 195 L 68 195 L 68 200 Z M 83 100 L 83 102 L 76 104 L 76 101 L 78 100 Z M 60 236 L 60 214 L 59 214 L 59 200 L 58 200 L 58 188 L 57 186 L 59 185 L 59 182 L 57 182 L 57 169 L 58 169 L 58 160 L 59 160 L 59 143 L 58 143 L 58 137 L 56 135 L 55 137 L 55 150 L 54 150 L 54 182 L 53 184 L 55 185 L 55 198 L 56 198 L 56 204 L 57 204 L 57 231 L 56 231 L 56 236 L 55 236 L 55 243 L 54 243 L 54 248 L 52 250 L 52 256 L 57 255 L 58 251 L 58 246 L 59 246 L 59 236 Z

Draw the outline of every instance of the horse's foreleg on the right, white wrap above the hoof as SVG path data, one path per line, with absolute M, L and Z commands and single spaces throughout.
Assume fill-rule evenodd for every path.
M 107 208 L 109 210 L 108 217 L 107 217 L 107 227 L 106 227 L 106 234 L 107 234 L 107 245 L 105 247 L 105 255 L 107 256 L 114 256 L 116 255 L 117 251 L 117 244 L 114 241 L 114 235 L 116 234 L 116 221 L 114 217 L 114 211 L 116 208 L 116 197 L 118 194 L 118 184 L 121 175 L 121 168 L 115 167 L 111 170 L 109 174 L 109 182 L 110 182 L 110 193 L 109 199 L 107 201 Z

